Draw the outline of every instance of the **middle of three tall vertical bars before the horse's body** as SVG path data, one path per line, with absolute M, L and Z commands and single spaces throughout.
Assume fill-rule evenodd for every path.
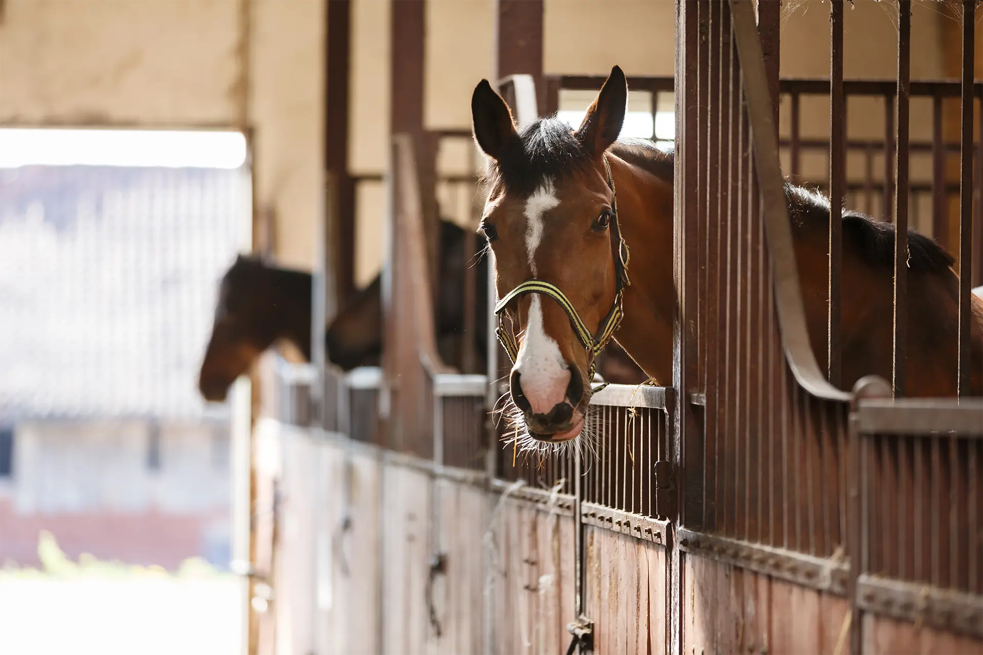
M 911 77 L 911 0 L 897 1 L 897 107 L 895 166 L 895 333 L 892 386 L 904 394 L 908 297 L 908 96 Z

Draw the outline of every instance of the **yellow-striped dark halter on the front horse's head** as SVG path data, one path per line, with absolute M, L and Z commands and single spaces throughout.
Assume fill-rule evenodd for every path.
M 601 325 L 598 327 L 598 333 L 596 335 L 591 334 L 590 329 L 587 324 L 584 323 L 583 319 L 577 313 L 574 308 L 573 303 L 566 297 L 563 292 L 559 290 L 559 287 L 547 282 L 545 280 L 531 279 L 526 280 L 518 287 L 508 292 L 505 297 L 494 305 L 494 313 L 498 317 L 498 326 L 495 328 L 495 335 L 498 337 L 498 341 L 501 343 L 502 348 L 505 349 L 505 353 L 508 358 L 511 359 L 512 363 L 515 363 L 515 358 L 519 355 L 519 345 L 515 339 L 515 335 L 512 334 L 510 329 L 506 329 L 503 322 L 502 314 L 505 311 L 505 307 L 508 304 L 520 296 L 525 296 L 526 294 L 540 294 L 542 296 L 547 296 L 548 298 L 555 300 L 556 303 L 563 308 L 566 315 L 570 318 L 570 325 L 573 327 L 574 333 L 577 335 L 577 339 L 583 344 L 584 348 L 587 349 L 589 368 L 587 371 L 587 376 L 591 380 L 594 379 L 594 372 L 597 364 L 597 357 L 601 355 L 601 352 L 605 350 L 607 342 L 610 341 L 611 335 L 614 334 L 614 330 L 617 329 L 618 324 L 621 322 L 621 316 L 623 311 L 621 308 L 621 300 L 624 295 L 624 290 L 626 287 L 631 285 L 628 280 L 628 245 L 624 243 L 624 238 L 621 237 L 621 230 L 618 227 L 617 222 L 617 192 L 614 191 L 614 179 L 611 177 L 611 167 L 607 162 L 607 156 L 605 160 L 605 169 L 607 170 L 607 186 L 611 190 L 611 220 L 608 225 L 608 230 L 610 231 L 610 244 L 611 244 L 611 256 L 614 259 L 614 302 L 611 304 L 610 310 L 607 312 L 607 316 L 601 321 Z M 591 389 L 592 393 L 597 393 L 607 387 L 607 382 L 598 385 Z

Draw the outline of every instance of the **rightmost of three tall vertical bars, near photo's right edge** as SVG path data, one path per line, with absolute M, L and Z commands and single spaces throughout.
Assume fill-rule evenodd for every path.
M 962 134 L 959 141 L 959 398 L 969 389 L 969 319 L 972 316 L 973 57 L 976 0 L 962 0 Z

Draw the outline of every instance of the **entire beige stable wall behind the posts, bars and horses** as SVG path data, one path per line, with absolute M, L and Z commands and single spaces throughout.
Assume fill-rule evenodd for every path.
M 389 1 L 355 0 L 353 7 L 350 166 L 357 174 L 385 167 Z M 274 210 L 277 256 L 308 267 L 320 203 L 322 0 L 7 0 L 0 122 L 234 126 L 244 2 L 252 6 L 248 119 L 257 198 L 260 209 Z M 785 5 L 782 75 L 826 77 L 829 4 Z M 493 0 L 428 2 L 428 127 L 468 128 L 474 84 L 492 73 L 493 11 Z M 887 2 L 847 4 L 847 78 L 894 77 L 892 11 Z M 933 8 L 915 5 L 912 78 L 942 77 L 940 21 Z M 673 22 L 670 0 L 547 0 L 545 68 L 604 74 L 616 63 L 629 75 L 671 75 Z M 849 111 L 849 136 L 881 135 L 879 100 L 851 101 Z M 926 103 L 912 104 L 913 136 L 925 136 L 928 116 Z M 803 105 L 805 134 L 823 136 L 828 126 L 823 101 Z M 469 145 L 451 144 L 440 168 L 466 170 L 474 161 Z M 381 257 L 381 186 L 364 185 L 358 206 L 357 279 L 365 284 Z

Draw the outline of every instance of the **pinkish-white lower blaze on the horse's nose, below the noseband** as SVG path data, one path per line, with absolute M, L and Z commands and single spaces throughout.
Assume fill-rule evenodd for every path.
M 559 346 L 543 328 L 543 306 L 538 295 L 533 295 L 529 304 L 529 321 L 514 370 L 519 373 L 519 385 L 533 412 L 549 413 L 566 397 L 570 371 Z

